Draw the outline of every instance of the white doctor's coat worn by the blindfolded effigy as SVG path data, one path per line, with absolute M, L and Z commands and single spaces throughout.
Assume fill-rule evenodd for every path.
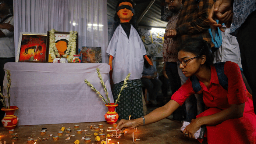
M 113 82 L 120 83 L 128 73 L 130 80 L 141 79 L 145 46 L 136 29 L 131 25 L 129 39 L 121 24 L 115 29 L 106 53 L 113 56 Z

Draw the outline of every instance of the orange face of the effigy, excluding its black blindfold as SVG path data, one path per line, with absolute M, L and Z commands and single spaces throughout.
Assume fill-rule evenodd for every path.
M 122 5 L 127 5 L 132 7 L 132 4 L 129 2 L 122 2 L 119 4 L 119 7 Z M 129 22 L 132 19 L 132 16 L 134 15 L 131 10 L 128 10 L 127 8 L 121 9 L 117 12 L 118 17 L 120 18 L 120 22 Z

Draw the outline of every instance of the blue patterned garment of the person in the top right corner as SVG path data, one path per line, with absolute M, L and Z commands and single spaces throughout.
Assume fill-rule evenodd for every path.
M 245 19 L 256 10 L 256 0 L 234 0 L 233 3 L 233 24 L 230 34 L 237 36 L 239 27 L 245 22 Z

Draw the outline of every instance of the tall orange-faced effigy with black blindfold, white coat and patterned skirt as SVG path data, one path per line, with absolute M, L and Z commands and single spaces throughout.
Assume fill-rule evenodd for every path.
M 121 92 L 116 111 L 119 119 L 132 119 L 143 116 L 142 85 L 143 56 L 152 65 L 146 55 L 143 42 L 134 28 L 132 19 L 134 3 L 131 0 L 120 0 L 116 7 L 116 18 L 120 24 L 115 29 L 106 53 L 109 55 L 110 71 L 113 70 L 113 97 L 117 99 L 123 80 L 131 73 L 128 87 Z M 132 21 L 132 22 L 131 22 Z

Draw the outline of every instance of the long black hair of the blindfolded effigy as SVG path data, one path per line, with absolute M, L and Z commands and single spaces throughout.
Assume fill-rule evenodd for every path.
M 129 2 L 129 3 L 132 4 L 132 8 L 134 8 L 134 2 L 132 2 L 131 0 L 119 0 L 115 9 L 117 9 L 119 7 L 119 4 L 122 3 L 122 2 Z M 130 20 L 129 23 L 138 31 L 138 25 L 137 25 L 137 22 L 136 22 L 136 15 L 135 14 L 132 16 L 132 19 Z M 117 12 L 115 12 L 114 24 L 113 24 L 113 30 L 111 32 L 111 36 L 113 36 L 114 31 L 115 31 L 115 29 L 117 28 L 117 26 L 119 24 L 120 24 L 120 18 L 118 17 Z

